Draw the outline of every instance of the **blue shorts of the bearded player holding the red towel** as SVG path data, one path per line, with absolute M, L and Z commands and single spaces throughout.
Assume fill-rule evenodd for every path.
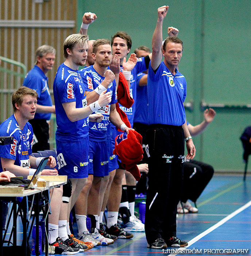
M 109 175 L 109 152 L 107 148 L 107 141 L 97 142 L 89 140 L 88 174 L 93 174 L 94 177 L 104 177 Z

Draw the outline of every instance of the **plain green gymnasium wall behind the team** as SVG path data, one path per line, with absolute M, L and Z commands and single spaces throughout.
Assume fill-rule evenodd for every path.
M 196 159 L 212 164 L 216 172 L 243 172 L 239 138 L 251 125 L 251 108 L 245 107 L 251 106 L 250 0 L 78 0 L 77 27 L 84 12 L 94 12 L 98 18 L 89 26 L 90 39 L 111 39 L 123 30 L 131 35 L 131 52 L 140 45 L 151 48 L 157 8 L 164 4 L 169 5 L 164 33 L 168 26 L 177 27 L 184 43 L 179 71 L 187 81 L 185 103 L 193 102 L 187 120 L 193 125 L 203 120 L 201 102 L 218 106 L 213 123 L 193 139 Z

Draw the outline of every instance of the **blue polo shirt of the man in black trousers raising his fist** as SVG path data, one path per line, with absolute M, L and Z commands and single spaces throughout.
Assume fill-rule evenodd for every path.
M 183 102 L 186 98 L 186 79 L 175 69 L 173 75 L 162 61 L 156 74 L 149 63 L 147 100 L 149 124 L 180 126 L 186 121 Z

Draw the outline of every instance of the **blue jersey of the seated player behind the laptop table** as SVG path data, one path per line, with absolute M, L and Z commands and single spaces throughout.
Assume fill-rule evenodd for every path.
M 0 146 L 0 157 L 15 160 L 14 165 L 30 168 L 33 130 L 30 123 L 20 129 L 14 114 L 0 125 L 0 136 L 12 136 L 13 144 Z M 3 172 L 0 159 L 0 172 Z

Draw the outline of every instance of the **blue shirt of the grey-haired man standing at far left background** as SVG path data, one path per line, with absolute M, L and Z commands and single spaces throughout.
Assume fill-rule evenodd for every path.
M 48 78 L 37 65 L 34 66 L 24 78 L 23 86 L 36 90 L 38 104 L 52 106 L 51 96 L 48 87 Z M 51 113 L 35 113 L 34 119 L 50 120 Z

